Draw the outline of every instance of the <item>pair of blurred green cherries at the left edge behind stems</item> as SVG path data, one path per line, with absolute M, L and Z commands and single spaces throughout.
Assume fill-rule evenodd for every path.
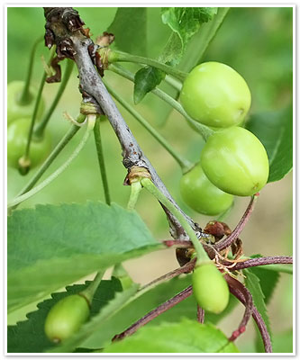
M 32 113 L 37 98 L 37 90 L 23 81 L 13 81 L 7 85 L 7 164 L 20 169 L 20 160 L 25 154 Z M 41 98 L 36 112 L 36 120 L 41 121 L 45 103 Z M 51 141 L 48 131 L 40 137 L 33 137 L 28 154 L 30 167 L 35 167 L 50 153 Z

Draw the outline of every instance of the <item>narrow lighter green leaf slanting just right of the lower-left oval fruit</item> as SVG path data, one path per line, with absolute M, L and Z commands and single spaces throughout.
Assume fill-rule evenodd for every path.
M 102 327 L 105 331 L 105 323 L 110 320 L 115 313 L 123 309 L 123 306 L 138 291 L 139 285 L 132 284 L 129 289 L 123 290 L 122 293 L 116 293 L 114 299 L 109 302 L 94 318 L 84 324 L 76 334 L 68 338 L 59 347 L 50 349 L 50 353 L 69 353 L 77 347 L 82 347 L 84 340 L 95 333 L 96 329 Z

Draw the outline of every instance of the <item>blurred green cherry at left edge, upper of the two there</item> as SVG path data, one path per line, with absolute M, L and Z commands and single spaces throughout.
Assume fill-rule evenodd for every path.
M 7 124 L 9 125 L 14 120 L 23 117 L 31 117 L 35 100 L 38 95 L 38 91 L 31 86 L 30 94 L 31 99 L 28 103 L 20 103 L 20 97 L 23 92 L 24 82 L 23 81 L 13 81 L 7 85 Z M 41 114 L 45 109 L 45 103 L 41 98 L 39 109 L 37 112 L 37 120 L 41 118 Z

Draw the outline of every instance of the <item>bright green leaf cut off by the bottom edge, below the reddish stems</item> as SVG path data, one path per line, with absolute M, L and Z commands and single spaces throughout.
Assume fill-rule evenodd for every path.
M 193 320 L 142 328 L 131 337 L 106 347 L 104 353 L 238 353 L 213 325 Z

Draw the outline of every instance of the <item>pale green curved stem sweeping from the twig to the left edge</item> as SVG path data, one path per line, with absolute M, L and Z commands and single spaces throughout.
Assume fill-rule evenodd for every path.
M 88 115 L 89 116 L 89 115 Z M 23 193 L 23 195 L 15 197 L 11 202 L 8 203 L 8 208 L 13 207 L 14 205 L 17 205 L 20 202 L 24 202 L 25 200 L 32 197 L 34 194 L 39 193 L 45 186 L 50 184 L 53 180 L 55 180 L 63 171 L 66 170 L 66 168 L 71 164 L 71 162 L 77 157 L 81 149 L 86 145 L 86 141 L 89 138 L 89 135 L 91 133 L 91 130 L 93 130 L 95 124 L 95 117 L 90 119 L 87 122 L 86 126 L 86 132 L 79 144 L 77 145 L 77 148 L 73 151 L 70 157 L 68 157 L 68 160 L 60 166 L 53 174 L 51 174 L 49 177 L 47 177 L 41 184 L 37 185 L 36 187 L 32 188 L 27 193 Z

